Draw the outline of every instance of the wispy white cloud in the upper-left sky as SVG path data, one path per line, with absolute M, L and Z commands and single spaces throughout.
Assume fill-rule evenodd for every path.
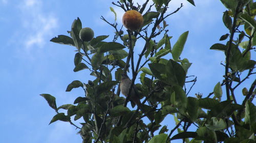
M 43 3 L 40 0 L 24 0 L 19 5 L 20 18 L 26 32 L 26 35 L 21 40 L 26 49 L 43 47 L 46 43 L 46 38 L 57 27 L 57 18 L 51 12 L 44 12 Z

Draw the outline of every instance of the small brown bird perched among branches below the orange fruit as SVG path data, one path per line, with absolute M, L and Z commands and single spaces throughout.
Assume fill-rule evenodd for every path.
M 132 80 L 127 76 L 127 74 L 126 73 L 122 73 L 122 78 L 121 78 L 121 83 L 120 83 L 120 90 L 121 90 L 121 93 L 125 97 L 128 96 L 129 88 L 130 88 L 131 83 L 132 83 Z M 138 91 L 137 91 L 135 85 L 133 85 L 133 87 L 132 87 L 130 100 L 135 102 L 136 105 L 139 107 L 139 109 L 141 111 L 144 111 L 143 105 L 140 102 L 139 94 L 138 94 Z

